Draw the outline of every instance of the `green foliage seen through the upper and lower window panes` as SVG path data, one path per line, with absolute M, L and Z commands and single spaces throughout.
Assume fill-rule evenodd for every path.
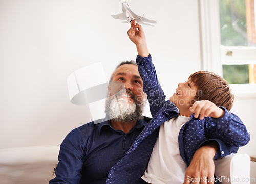
M 221 45 L 248 46 L 245 0 L 219 0 Z M 222 65 L 229 84 L 249 83 L 248 65 Z

